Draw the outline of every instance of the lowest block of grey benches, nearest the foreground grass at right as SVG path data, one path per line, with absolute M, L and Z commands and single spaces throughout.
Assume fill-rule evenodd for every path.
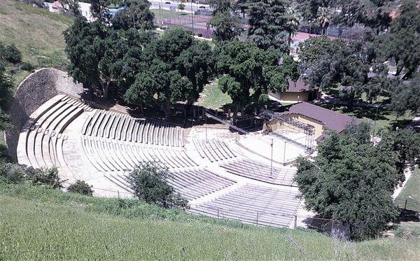
M 298 192 L 246 184 L 191 207 L 190 213 L 263 226 L 288 226 L 300 204 Z

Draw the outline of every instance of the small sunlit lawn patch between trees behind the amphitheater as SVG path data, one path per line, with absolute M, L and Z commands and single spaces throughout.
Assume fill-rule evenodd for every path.
M 222 108 L 225 104 L 232 103 L 228 94 L 224 94 L 218 87 L 217 80 L 214 83 L 210 83 L 204 87 L 201 94 L 200 106 L 205 108 L 218 109 Z

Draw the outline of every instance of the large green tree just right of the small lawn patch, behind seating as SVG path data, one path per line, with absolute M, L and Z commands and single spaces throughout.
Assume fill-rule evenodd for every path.
M 218 85 L 232 99 L 233 120 L 240 108 L 251 103 L 251 90 L 256 99 L 267 90 L 284 90 L 288 79 L 297 80 L 299 70 L 291 57 L 276 50 L 264 51 L 251 41 L 230 41 L 216 50 Z

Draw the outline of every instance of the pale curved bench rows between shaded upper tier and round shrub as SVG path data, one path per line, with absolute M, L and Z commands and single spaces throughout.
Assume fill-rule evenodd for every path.
M 197 167 L 184 150 L 158 146 L 139 146 L 113 139 L 82 136 L 87 159 L 98 171 L 130 171 L 141 162 L 157 162 L 160 167 Z

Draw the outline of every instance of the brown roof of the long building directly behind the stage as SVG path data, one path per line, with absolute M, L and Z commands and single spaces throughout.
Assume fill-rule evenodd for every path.
M 280 114 L 287 115 L 291 113 L 304 115 L 314 120 L 318 120 L 323 123 L 324 127 L 335 130 L 337 132 L 342 132 L 346 125 L 349 124 L 349 122 L 352 120 L 354 120 L 357 124 L 361 123 L 361 121 L 356 118 L 338 113 L 337 111 L 328 110 L 328 108 L 322 108 L 314 104 L 309 104 L 304 101 L 293 104 L 288 108 L 288 111 Z

